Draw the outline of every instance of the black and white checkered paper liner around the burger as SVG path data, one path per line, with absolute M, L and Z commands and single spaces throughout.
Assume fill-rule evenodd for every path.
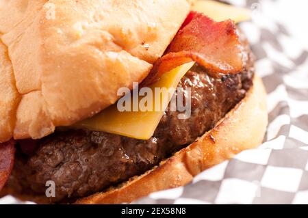
M 229 3 L 253 10 L 253 21 L 240 26 L 268 92 L 264 144 L 207 169 L 185 187 L 134 204 L 308 204 L 308 1 Z M 0 204 L 30 203 L 0 199 Z

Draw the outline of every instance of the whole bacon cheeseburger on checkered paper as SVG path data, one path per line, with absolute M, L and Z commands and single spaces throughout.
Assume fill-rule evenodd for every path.
M 233 21 L 196 5 L 234 10 L 188 0 L 0 1 L 2 195 L 132 202 L 261 144 L 266 92 L 248 42 Z M 143 87 L 176 89 L 152 96 L 157 111 L 121 111 Z M 177 98 L 181 90 L 190 98 Z M 172 110 L 175 97 L 190 103 L 188 115 Z

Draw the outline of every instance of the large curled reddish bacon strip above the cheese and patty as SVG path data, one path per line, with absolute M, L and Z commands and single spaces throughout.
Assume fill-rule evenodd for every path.
M 146 81 L 153 82 L 164 72 L 191 61 L 207 68 L 213 76 L 217 72 L 240 72 L 242 45 L 233 21 L 215 22 L 203 14 L 190 12 Z

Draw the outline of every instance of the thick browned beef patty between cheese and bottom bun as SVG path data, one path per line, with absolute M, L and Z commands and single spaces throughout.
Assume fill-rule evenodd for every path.
M 253 59 L 246 46 L 245 65 L 238 74 L 209 77 L 196 64 L 181 79 L 190 87 L 192 113 L 180 120 L 179 111 L 166 111 L 153 137 L 138 140 L 110 133 L 56 131 L 36 142 L 34 154 L 18 149 L 11 183 L 23 191 L 44 195 L 47 180 L 56 185 L 55 202 L 84 197 L 140 175 L 173 152 L 213 128 L 252 85 Z

